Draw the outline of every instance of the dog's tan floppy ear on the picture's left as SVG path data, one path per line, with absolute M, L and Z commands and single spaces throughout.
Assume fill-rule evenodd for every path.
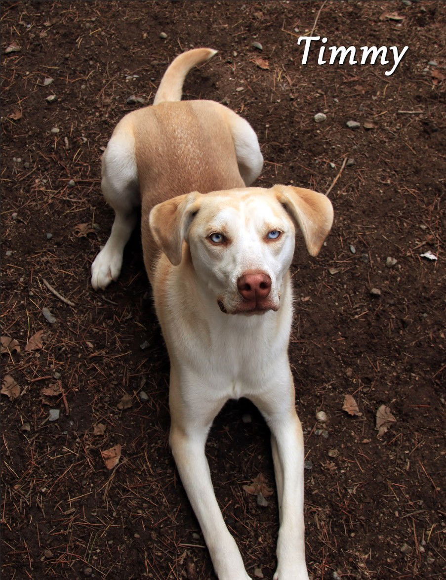
M 182 258 L 183 241 L 195 213 L 200 208 L 198 191 L 177 195 L 171 200 L 155 205 L 148 216 L 150 231 L 173 266 Z

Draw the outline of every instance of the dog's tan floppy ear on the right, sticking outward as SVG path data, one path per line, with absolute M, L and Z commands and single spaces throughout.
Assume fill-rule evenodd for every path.
M 310 255 L 317 256 L 333 223 L 331 201 L 327 195 L 302 187 L 275 185 L 273 190 L 302 230 Z

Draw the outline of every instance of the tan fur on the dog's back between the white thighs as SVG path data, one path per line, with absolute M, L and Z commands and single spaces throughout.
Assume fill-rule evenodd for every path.
M 154 205 L 190 191 L 244 187 L 226 114 L 212 101 L 160 103 L 132 113 L 147 272 L 159 253 L 148 227 Z

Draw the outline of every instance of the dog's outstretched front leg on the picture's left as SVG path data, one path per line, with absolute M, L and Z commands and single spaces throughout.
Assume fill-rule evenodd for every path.
M 170 444 L 187 496 L 200 523 L 219 580 L 248 580 L 242 557 L 224 523 L 205 456 L 212 420 L 224 400 L 209 399 L 209 390 L 178 384 L 171 374 Z M 194 395 L 194 393 L 196 393 Z

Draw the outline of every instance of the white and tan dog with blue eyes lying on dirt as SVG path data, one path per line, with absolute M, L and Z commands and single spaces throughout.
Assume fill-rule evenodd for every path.
M 154 105 L 116 126 L 101 182 L 115 219 L 92 264 L 92 285 L 117 280 L 141 205 L 144 264 L 171 362 L 169 442 L 216 575 L 249 578 L 213 492 L 205 443 L 224 403 L 247 397 L 271 430 L 280 516 L 274 579 L 303 580 L 304 450 L 287 354 L 289 267 L 296 231 L 316 256 L 333 209 L 315 191 L 249 187 L 263 157 L 248 122 L 216 102 L 180 100 L 188 71 L 215 53 L 177 56 Z

